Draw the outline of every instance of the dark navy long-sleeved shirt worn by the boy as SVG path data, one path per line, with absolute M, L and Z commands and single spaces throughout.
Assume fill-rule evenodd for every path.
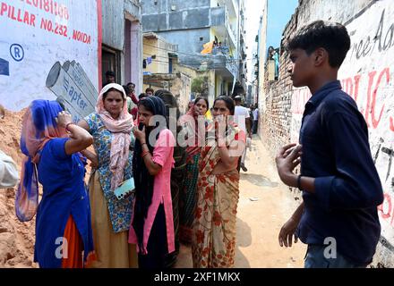
M 303 192 L 300 240 L 329 246 L 324 240 L 334 238 L 342 256 L 357 265 L 371 263 L 381 234 L 377 206 L 383 191 L 364 117 L 338 80 L 306 103 L 300 143 L 301 174 L 315 178 L 315 193 Z

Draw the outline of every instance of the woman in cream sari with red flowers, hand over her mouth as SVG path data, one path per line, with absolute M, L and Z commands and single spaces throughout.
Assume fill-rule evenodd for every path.
M 233 122 L 231 97 L 218 97 L 214 122 L 202 148 L 193 223 L 193 266 L 233 267 L 236 250 L 236 207 L 239 198 L 238 159 L 245 134 Z

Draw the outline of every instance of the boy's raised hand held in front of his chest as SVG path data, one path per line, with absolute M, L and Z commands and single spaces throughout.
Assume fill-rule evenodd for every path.
M 297 187 L 297 177 L 293 173 L 294 168 L 300 164 L 302 146 L 295 143 L 281 147 L 275 158 L 280 180 L 289 187 Z

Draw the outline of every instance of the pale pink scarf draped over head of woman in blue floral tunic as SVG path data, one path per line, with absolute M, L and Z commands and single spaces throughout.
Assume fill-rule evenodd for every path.
M 112 118 L 104 108 L 103 95 L 111 88 L 120 91 L 124 97 L 124 105 L 117 119 Z M 111 190 L 115 190 L 124 179 L 124 166 L 129 157 L 129 147 L 132 140 L 133 116 L 127 111 L 124 88 L 117 83 L 110 83 L 101 89 L 96 112 L 100 115 L 107 130 L 112 133 L 109 170 L 112 172 Z

